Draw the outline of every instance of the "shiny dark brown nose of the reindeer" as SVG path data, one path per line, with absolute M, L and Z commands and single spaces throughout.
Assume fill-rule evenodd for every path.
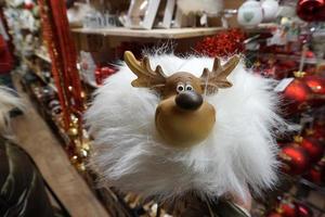
M 195 91 L 184 91 L 179 93 L 176 99 L 178 107 L 183 110 L 197 110 L 203 104 L 203 98 Z

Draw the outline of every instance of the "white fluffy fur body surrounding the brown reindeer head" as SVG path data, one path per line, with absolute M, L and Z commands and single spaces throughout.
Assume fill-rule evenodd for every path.
M 167 75 L 190 72 L 200 76 L 212 67 L 209 58 L 180 59 L 173 54 L 151 56 L 154 68 Z M 229 79 L 233 87 L 205 98 L 216 111 L 216 125 L 208 139 L 191 149 L 164 145 L 155 129 L 159 97 L 130 84 L 135 76 L 126 66 L 109 77 L 86 114 L 94 137 L 90 165 L 102 183 L 143 196 L 174 197 L 194 190 L 207 196 L 235 192 L 245 197 L 272 187 L 276 180 L 276 145 L 272 129 L 282 124 L 278 102 L 270 91 L 272 81 L 239 65 Z

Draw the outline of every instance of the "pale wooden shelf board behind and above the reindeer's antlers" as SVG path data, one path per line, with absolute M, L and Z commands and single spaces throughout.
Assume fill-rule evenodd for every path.
M 102 35 L 110 37 L 132 37 L 132 38 L 160 38 L 160 39 L 183 39 L 202 36 L 211 36 L 223 27 L 206 28 L 169 28 L 169 29 L 130 29 L 125 27 L 115 28 L 73 28 L 75 34 Z

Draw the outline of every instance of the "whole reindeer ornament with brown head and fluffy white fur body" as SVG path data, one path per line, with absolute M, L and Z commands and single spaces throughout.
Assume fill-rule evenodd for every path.
M 86 114 L 102 184 L 170 199 L 245 199 L 276 180 L 273 81 L 204 56 L 125 53 Z M 155 69 L 152 69 L 155 68 Z M 211 69 L 209 69 L 211 68 Z

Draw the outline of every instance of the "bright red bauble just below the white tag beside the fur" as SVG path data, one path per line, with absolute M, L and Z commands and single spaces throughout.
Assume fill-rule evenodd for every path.
M 292 114 L 306 110 L 311 93 L 311 89 L 300 79 L 291 81 L 282 92 L 287 106 L 287 112 Z

